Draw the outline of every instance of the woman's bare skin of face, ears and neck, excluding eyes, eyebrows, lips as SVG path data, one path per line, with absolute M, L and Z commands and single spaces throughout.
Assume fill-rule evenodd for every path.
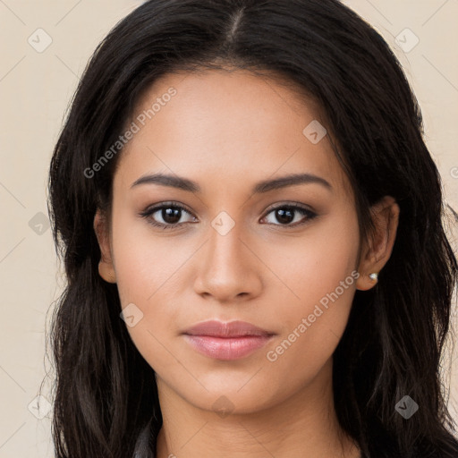
M 328 136 L 313 144 L 302 133 L 320 120 L 317 107 L 293 88 L 238 70 L 168 74 L 135 113 L 170 87 L 174 98 L 123 149 L 111 215 L 98 211 L 94 221 L 100 275 L 117 284 L 123 308 L 133 303 L 143 313 L 128 331 L 157 374 L 164 418 L 157 456 L 359 457 L 335 416 L 333 352 L 355 290 L 374 287 L 369 274 L 391 255 L 397 204 L 380 200 L 372 208 L 377 231 L 360 241 L 352 189 Z M 159 172 L 197 182 L 201 191 L 131 187 Z M 332 189 L 309 182 L 251 191 L 259 181 L 297 173 L 318 175 Z M 181 227 L 163 231 L 139 216 L 170 200 L 186 208 Z M 293 202 L 318 216 L 296 211 L 282 225 L 272 208 Z M 222 211 L 234 223 L 225 235 L 212 226 Z M 148 217 L 170 221 L 161 211 Z M 355 270 L 358 279 L 321 307 L 324 313 L 283 354 L 267 360 Z M 215 360 L 181 334 L 210 318 L 248 321 L 276 335 L 240 360 Z M 221 396 L 229 415 L 213 406 Z

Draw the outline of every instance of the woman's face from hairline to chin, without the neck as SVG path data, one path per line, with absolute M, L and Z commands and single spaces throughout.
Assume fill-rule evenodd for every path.
M 132 122 L 100 272 L 129 307 L 128 331 L 159 389 L 205 410 L 224 395 L 242 413 L 329 377 L 360 238 L 313 104 L 249 72 L 169 74 Z M 183 334 L 211 319 L 268 335 Z

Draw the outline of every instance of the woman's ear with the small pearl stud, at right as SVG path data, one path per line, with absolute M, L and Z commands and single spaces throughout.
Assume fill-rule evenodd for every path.
M 356 289 L 366 291 L 377 284 L 377 278 L 372 279 L 369 275 L 378 275 L 390 259 L 399 223 L 399 211 L 399 206 L 391 196 L 385 196 L 370 208 L 376 230 L 370 240 L 363 243 Z

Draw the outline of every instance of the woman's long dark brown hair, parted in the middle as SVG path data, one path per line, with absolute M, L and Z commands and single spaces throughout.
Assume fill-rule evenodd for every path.
M 93 230 L 109 209 L 121 150 L 87 172 L 123 133 L 141 95 L 170 72 L 227 68 L 293 83 L 323 111 L 354 191 L 360 235 L 372 204 L 401 209 L 379 283 L 356 291 L 334 354 L 335 410 L 366 457 L 458 456 L 440 363 L 457 261 L 443 226 L 441 181 L 420 107 L 376 30 L 337 0 L 149 0 L 91 57 L 54 150 L 49 213 L 67 285 L 52 324 L 57 458 L 156 453 L 162 426 L 154 370 L 123 320 L 115 284 L 98 275 Z M 395 405 L 409 395 L 409 420 Z

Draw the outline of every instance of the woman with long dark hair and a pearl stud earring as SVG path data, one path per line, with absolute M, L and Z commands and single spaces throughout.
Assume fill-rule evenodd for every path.
M 456 457 L 457 263 L 420 108 L 335 0 L 150 0 L 50 169 L 70 457 Z

